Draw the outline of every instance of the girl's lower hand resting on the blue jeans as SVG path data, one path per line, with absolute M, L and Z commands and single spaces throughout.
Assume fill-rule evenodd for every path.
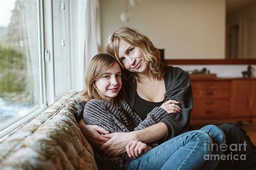
M 130 158 L 133 157 L 135 159 L 149 151 L 151 148 L 147 146 L 147 144 L 142 143 L 141 141 L 132 140 L 130 141 L 129 144 L 125 146 L 125 149 L 128 156 Z

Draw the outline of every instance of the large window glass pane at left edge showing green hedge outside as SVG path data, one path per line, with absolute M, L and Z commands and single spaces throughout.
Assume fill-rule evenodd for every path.
M 37 6 L 0 1 L 0 131 L 41 103 Z

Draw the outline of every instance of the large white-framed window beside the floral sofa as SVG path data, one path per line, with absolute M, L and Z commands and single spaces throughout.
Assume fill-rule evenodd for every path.
M 0 138 L 73 90 L 70 11 L 68 0 L 0 1 Z

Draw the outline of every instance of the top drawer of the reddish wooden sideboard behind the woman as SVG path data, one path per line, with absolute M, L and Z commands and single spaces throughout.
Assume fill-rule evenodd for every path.
M 231 82 L 230 81 L 192 81 L 191 82 L 192 90 L 197 89 L 230 89 Z

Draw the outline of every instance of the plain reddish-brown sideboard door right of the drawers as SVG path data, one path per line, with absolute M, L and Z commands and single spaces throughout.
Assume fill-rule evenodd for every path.
M 232 116 L 252 116 L 255 114 L 255 81 L 234 80 L 231 89 Z

